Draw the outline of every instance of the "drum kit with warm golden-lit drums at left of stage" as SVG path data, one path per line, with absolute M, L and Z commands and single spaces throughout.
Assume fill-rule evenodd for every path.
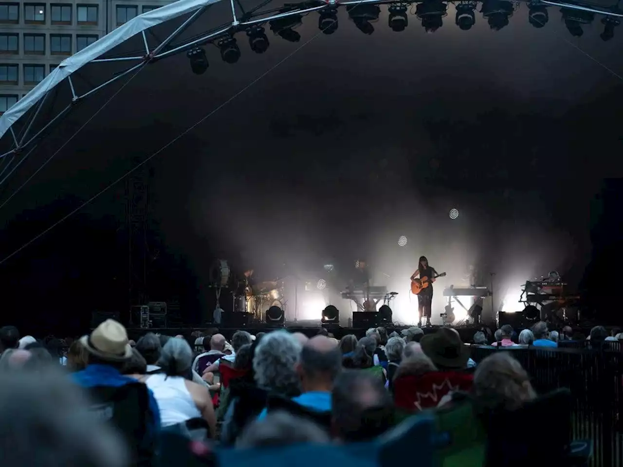
M 222 288 L 232 290 L 234 308 L 238 313 L 252 313 L 254 319 L 262 321 L 264 313 L 271 306 L 283 309 L 285 305 L 283 295 L 283 280 L 264 281 L 250 285 L 247 273 L 242 278 L 234 278 L 227 260 L 216 260 L 210 272 L 210 283 L 217 288 L 217 303 Z M 218 306 L 218 304 L 217 304 Z

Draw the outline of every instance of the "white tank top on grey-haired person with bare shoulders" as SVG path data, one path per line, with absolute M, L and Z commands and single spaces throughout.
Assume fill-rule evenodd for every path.
M 158 402 L 163 427 L 186 422 L 191 418 L 201 418 L 201 412 L 195 405 L 183 377 L 156 373 L 150 375 L 145 384 Z

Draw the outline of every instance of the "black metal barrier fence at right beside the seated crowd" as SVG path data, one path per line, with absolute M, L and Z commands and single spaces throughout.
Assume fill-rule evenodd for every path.
M 623 353 L 618 342 L 600 349 L 471 347 L 476 362 L 498 351 L 509 351 L 521 362 L 539 394 L 560 387 L 571 390 L 572 435 L 576 440 L 593 441 L 593 467 L 623 466 Z M 535 423 L 551 423 L 556 430 L 556 420 L 549 420 L 547 413 Z M 530 436 L 527 428 L 526 436 Z M 543 440 L 543 449 L 547 449 L 547 440 Z

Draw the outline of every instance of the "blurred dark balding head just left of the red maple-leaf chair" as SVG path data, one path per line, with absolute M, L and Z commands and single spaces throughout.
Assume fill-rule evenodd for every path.
M 333 435 L 342 441 L 371 440 L 393 423 L 391 395 L 383 382 L 368 372 L 341 372 L 335 380 L 331 404 Z

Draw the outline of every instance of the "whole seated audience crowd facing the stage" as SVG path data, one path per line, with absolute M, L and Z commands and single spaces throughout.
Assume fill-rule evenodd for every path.
M 623 336 L 597 327 L 589 337 Z M 465 401 L 473 408 L 465 423 L 482 425 L 486 438 L 494 416 L 538 398 L 511 352 L 477 364 L 452 328 L 389 335 L 373 328 L 340 340 L 326 329 L 312 337 L 237 331 L 229 341 L 213 329 L 192 338 L 146 333 L 134 342 L 111 319 L 64 341 L 1 328 L 4 461 L 163 465 L 173 445 L 201 458 L 215 446 L 371 441 L 425 409 L 446 413 Z M 478 331 L 471 345 L 555 347 L 572 339 L 571 329 L 536 323 L 519 334 L 502 326 L 492 339 Z

